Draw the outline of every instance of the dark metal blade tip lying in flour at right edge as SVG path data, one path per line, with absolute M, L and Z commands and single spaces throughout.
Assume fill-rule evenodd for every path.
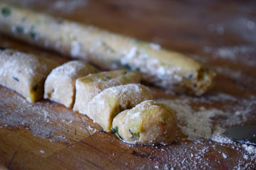
M 226 129 L 224 136 L 236 142 L 256 145 L 256 125 L 229 127 Z

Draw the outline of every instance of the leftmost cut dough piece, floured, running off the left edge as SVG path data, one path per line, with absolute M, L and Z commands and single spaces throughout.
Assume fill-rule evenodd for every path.
M 0 51 L 0 84 L 35 102 L 44 96 L 44 81 L 58 65 L 43 57 L 6 49 Z

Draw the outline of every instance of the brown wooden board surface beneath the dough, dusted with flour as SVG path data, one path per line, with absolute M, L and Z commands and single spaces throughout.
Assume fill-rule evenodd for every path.
M 204 106 L 228 110 L 243 99 L 256 99 L 254 1 L 87 0 L 73 10 L 57 8 L 56 3 L 66 2 L 64 0 L 11 2 L 156 42 L 201 60 L 218 74 L 215 87 L 202 97 L 207 99 L 222 93 L 237 100 L 200 105 L 195 102 L 192 104 L 195 109 Z M 74 2 L 79 4 L 81 0 Z M 0 45 L 40 54 L 60 63 L 68 61 L 59 54 L 4 35 L 0 37 Z M 221 50 L 226 50 L 226 53 L 221 53 Z M 181 99 L 179 94 L 151 89 L 156 99 Z M 195 100 L 202 97 L 195 97 Z M 255 108 L 248 115 L 250 119 L 243 123 L 256 124 Z M 17 119 L 13 119 L 15 116 Z M 221 119 L 224 118 L 220 116 L 215 121 Z M 244 159 L 246 151 L 241 144 L 222 144 L 211 139 L 189 141 L 181 130 L 178 130 L 175 142 L 168 146 L 126 144 L 113 133 L 103 131 L 87 116 L 44 99 L 28 103 L 19 94 L 2 86 L 0 120 L 0 169 L 256 168 L 255 160 Z

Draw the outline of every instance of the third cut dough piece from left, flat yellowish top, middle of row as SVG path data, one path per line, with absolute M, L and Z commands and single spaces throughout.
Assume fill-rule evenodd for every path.
M 106 88 L 130 83 L 139 83 L 138 71 L 118 70 L 91 74 L 76 80 L 76 100 L 74 111 L 86 114 L 87 105 L 94 96 Z

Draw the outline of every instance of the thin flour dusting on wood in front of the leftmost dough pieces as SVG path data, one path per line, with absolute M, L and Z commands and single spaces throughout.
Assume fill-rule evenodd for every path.
M 0 86 L 2 95 L 0 104 L 5 105 L 0 112 L 0 126 L 17 127 L 19 125 L 31 130 L 35 136 L 49 138 L 54 132 L 67 129 L 66 125 L 81 122 L 81 119 L 72 116 L 72 110 L 60 111 L 55 102 L 29 103 L 19 94 Z M 14 93 L 13 96 L 9 93 Z M 5 94 L 3 94 L 5 93 Z M 62 124 L 59 122 L 63 122 Z M 84 129 L 84 126 L 81 125 Z

